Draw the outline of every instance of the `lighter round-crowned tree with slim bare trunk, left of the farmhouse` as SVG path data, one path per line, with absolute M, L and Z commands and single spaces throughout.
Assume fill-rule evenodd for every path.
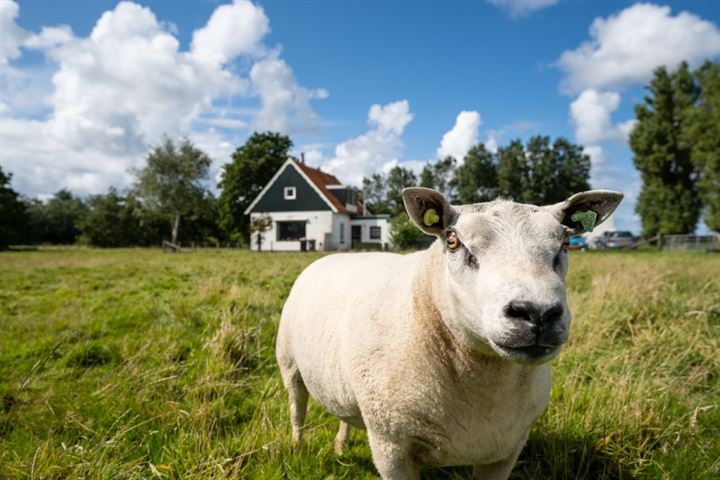
M 175 146 L 165 137 L 147 156 L 147 165 L 136 171 L 135 190 L 148 208 L 157 209 L 170 222 L 171 241 L 177 243 L 180 220 L 204 198 L 210 157 L 187 138 Z

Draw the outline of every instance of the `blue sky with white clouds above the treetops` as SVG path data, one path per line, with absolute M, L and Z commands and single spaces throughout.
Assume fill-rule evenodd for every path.
M 129 185 L 163 133 L 217 177 L 253 130 L 280 130 L 348 183 L 565 136 L 637 231 L 633 106 L 655 65 L 719 58 L 719 25 L 714 0 L 0 0 L 0 161 L 26 195 L 85 195 Z

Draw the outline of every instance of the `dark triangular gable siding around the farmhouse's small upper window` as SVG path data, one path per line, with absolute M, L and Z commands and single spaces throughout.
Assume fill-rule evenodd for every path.
M 295 200 L 285 200 L 285 187 L 295 187 Z M 306 210 L 332 209 L 297 170 L 292 165 L 288 165 L 251 212 L 300 212 Z

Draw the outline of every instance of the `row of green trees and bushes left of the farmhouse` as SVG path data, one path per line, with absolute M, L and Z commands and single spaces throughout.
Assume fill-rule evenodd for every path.
M 210 157 L 188 139 L 164 138 L 145 166 L 133 170 L 126 191 L 81 198 L 66 189 L 46 201 L 11 187 L 0 166 L 0 249 L 9 245 L 86 244 L 151 246 L 161 240 L 242 246 L 249 236 L 243 211 L 290 158 L 292 142 L 278 133 L 255 133 L 223 167 L 215 196 L 209 188 Z

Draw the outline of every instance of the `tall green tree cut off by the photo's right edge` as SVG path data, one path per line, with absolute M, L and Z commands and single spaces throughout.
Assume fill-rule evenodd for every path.
M 700 173 L 699 195 L 705 223 L 720 231 L 720 63 L 705 62 L 695 73 L 700 94 L 688 116 L 693 164 Z

